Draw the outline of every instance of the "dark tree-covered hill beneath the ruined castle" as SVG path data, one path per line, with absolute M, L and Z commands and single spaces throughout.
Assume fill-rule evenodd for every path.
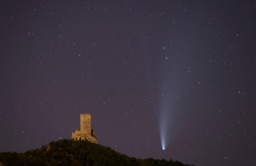
M 58 140 L 25 153 L 0 153 L 2 165 L 184 165 L 172 160 L 137 159 L 88 140 Z

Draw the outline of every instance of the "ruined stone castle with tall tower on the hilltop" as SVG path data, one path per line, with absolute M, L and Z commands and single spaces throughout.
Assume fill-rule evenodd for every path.
M 72 139 L 74 140 L 90 140 L 97 144 L 97 137 L 94 130 L 91 130 L 91 114 L 80 114 L 80 130 L 76 129 L 76 132 L 72 132 Z

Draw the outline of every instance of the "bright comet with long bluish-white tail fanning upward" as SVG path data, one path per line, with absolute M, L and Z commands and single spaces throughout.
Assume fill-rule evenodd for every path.
M 165 54 L 165 52 L 163 52 Z M 158 95 L 157 95 L 157 118 L 159 124 L 159 134 L 161 140 L 161 149 L 164 151 L 168 148 L 171 142 L 170 135 L 173 135 L 173 124 L 175 110 L 175 96 L 177 96 L 177 88 L 173 78 L 176 75 L 173 73 L 173 66 L 170 65 L 168 56 L 164 55 L 161 59 L 161 69 L 159 73 Z

